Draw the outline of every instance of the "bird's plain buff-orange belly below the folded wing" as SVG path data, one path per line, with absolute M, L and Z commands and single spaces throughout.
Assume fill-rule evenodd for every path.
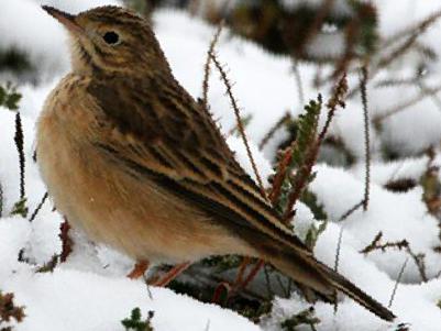
M 38 123 L 37 162 L 55 207 L 70 224 L 133 258 L 183 262 L 213 254 L 250 255 L 239 239 L 207 216 L 170 200 L 147 179 L 125 174 L 92 145 L 78 145 L 49 119 Z

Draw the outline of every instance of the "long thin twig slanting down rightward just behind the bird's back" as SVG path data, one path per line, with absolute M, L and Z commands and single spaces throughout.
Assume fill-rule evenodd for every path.
M 218 58 L 217 58 L 217 56 L 216 56 L 214 53 L 210 53 L 210 57 L 211 57 L 211 60 L 213 62 L 214 66 L 218 68 L 219 73 L 220 73 L 220 76 L 221 76 L 221 78 L 222 78 L 223 84 L 225 85 L 227 95 L 228 95 L 229 98 L 230 98 L 231 106 L 232 106 L 232 108 L 233 108 L 233 110 L 234 110 L 235 120 L 236 120 L 236 122 L 238 122 L 238 130 L 239 130 L 239 132 L 241 133 L 243 144 L 245 145 L 246 154 L 247 154 L 249 159 L 250 159 L 250 162 L 251 162 L 251 166 L 252 166 L 252 168 L 253 168 L 254 176 L 256 177 L 258 187 L 261 188 L 261 194 L 262 194 L 262 196 L 266 198 L 265 187 L 264 187 L 264 185 L 263 185 L 262 177 L 261 177 L 261 175 L 258 174 L 257 166 L 256 166 L 256 164 L 255 164 L 255 162 L 254 162 L 253 154 L 251 153 L 250 144 L 249 144 L 249 141 L 247 141 L 247 139 L 246 139 L 245 129 L 243 128 L 243 123 L 242 123 L 242 119 L 241 119 L 241 112 L 240 112 L 238 102 L 236 102 L 236 100 L 235 100 L 235 98 L 234 98 L 234 96 L 233 96 L 232 86 L 231 86 L 231 84 L 230 84 L 230 80 L 228 79 L 227 71 L 223 69 L 222 65 L 221 65 L 220 62 L 218 60 Z

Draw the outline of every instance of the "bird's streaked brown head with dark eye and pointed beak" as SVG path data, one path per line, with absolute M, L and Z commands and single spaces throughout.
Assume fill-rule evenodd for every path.
M 106 5 L 77 15 L 43 9 L 71 36 L 74 71 L 136 76 L 169 71 L 148 22 L 128 9 Z

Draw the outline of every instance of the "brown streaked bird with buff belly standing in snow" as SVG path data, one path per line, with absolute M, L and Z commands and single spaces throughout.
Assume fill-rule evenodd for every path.
M 43 9 L 68 31 L 71 71 L 43 106 L 36 156 L 74 228 L 144 265 L 262 258 L 323 297 L 340 291 L 395 319 L 286 225 L 209 110 L 176 80 L 147 20 L 114 5 Z

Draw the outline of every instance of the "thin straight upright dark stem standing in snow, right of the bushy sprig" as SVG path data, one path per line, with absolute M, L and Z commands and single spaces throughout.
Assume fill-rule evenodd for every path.
M 364 119 L 364 155 L 365 155 L 365 181 L 363 210 L 366 211 L 370 203 L 370 184 L 371 184 L 371 142 L 370 142 L 370 117 L 367 109 L 367 64 L 362 67 L 360 77 L 360 88 L 362 91 L 363 119 Z

